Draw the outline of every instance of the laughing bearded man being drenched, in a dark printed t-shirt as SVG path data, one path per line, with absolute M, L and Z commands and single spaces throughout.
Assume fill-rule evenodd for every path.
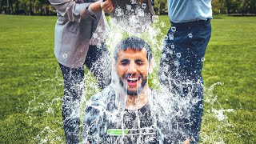
M 147 84 L 153 69 L 150 46 L 126 38 L 116 46 L 114 60 L 116 78 L 86 102 L 83 143 L 156 143 L 154 91 Z

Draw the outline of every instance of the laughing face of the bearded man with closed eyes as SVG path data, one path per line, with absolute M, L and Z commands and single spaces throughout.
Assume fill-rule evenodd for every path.
M 121 85 L 127 89 L 127 94 L 138 95 L 147 84 L 149 62 L 146 58 L 146 49 L 119 50 L 117 74 Z

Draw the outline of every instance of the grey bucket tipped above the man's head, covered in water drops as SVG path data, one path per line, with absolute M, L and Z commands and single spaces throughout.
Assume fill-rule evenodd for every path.
M 147 1 L 113 1 L 114 11 L 111 21 L 127 32 L 142 33 L 152 23 L 153 9 Z

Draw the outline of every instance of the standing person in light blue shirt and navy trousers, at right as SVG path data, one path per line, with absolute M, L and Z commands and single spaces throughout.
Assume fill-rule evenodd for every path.
M 202 65 L 210 41 L 211 0 L 167 0 L 170 30 L 166 34 L 159 80 L 171 93 L 190 97 L 185 122 L 190 143 L 199 142 L 203 112 Z

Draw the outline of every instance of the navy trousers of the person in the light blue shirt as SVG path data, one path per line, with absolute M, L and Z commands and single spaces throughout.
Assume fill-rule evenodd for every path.
M 198 143 L 203 113 L 202 65 L 211 24 L 210 20 L 170 23 L 158 76 L 162 86 L 171 93 L 182 98 L 191 96 L 189 117 L 178 121 L 184 122 L 190 143 Z

